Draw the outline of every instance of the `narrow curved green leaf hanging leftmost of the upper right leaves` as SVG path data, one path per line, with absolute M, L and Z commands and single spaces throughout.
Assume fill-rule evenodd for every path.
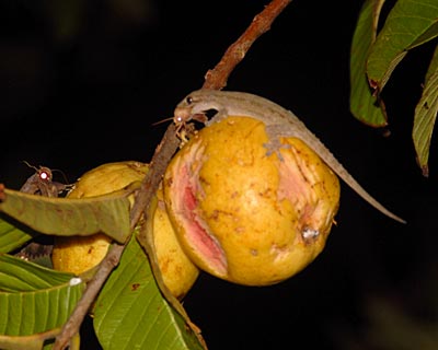
M 350 110 L 360 121 L 373 126 L 387 125 L 383 102 L 372 94 L 367 79 L 367 58 L 376 40 L 377 24 L 384 0 L 365 1 L 353 35 L 350 55 Z

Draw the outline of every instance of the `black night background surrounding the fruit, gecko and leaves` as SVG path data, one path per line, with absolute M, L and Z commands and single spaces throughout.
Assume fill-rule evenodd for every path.
M 0 0 L 0 182 L 19 188 L 32 174 L 23 160 L 61 170 L 69 182 L 107 162 L 149 162 L 165 130 L 152 124 L 201 86 L 266 3 Z M 364 126 L 348 110 L 360 4 L 292 1 L 227 89 L 293 110 L 408 223 L 343 184 L 326 248 L 298 276 L 247 288 L 201 275 L 184 305 L 211 350 L 438 348 L 438 162 L 433 147 L 424 178 L 411 138 L 434 47 L 407 55 L 387 85 L 389 128 Z

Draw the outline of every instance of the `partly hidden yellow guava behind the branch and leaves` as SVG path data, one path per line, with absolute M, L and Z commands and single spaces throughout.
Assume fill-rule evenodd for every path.
M 126 161 L 107 163 L 85 173 L 69 192 L 69 198 L 106 195 L 141 180 L 148 164 Z M 161 189 L 158 192 L 162 197 Z M 185 256 L 170 224 L 165 208 L 159 205 L 153 218 L 155 253 L 163 281 L 176 298 L 185 295 L 198 277 L 198 269 Z M 56 270 L 80 275 L 105 257 L 111 238 L 103 233 L 92 236 L 56 237 L 51 255 Z

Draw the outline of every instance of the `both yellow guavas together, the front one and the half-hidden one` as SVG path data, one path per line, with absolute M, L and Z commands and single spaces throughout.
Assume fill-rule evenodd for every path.
M 229 117 L 196 133 L 171 161 L 157 197 L 153 237 L 164 283 L 182 298 L 199 270 L 245 285 L 280 282 L 322 252 L 339 203 L 339 183 L 299 139 L 267 154 L 263 122 Z M 69 194 L 108 194 L 141 180 L 148 165 L 119 162 L 84 174 Z M 56 269 L 81 273 L 111 240 L 57 238 Z

